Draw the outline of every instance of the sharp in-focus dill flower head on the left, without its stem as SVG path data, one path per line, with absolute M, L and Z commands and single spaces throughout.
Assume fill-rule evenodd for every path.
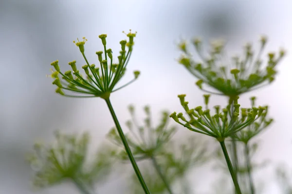
M 89 64 L 84 53 L 84 45 L 87 41 L 85 37 L 83 37 L 82 41 L 79 41 L 78 39 L 77 42 L 73 41 L 85 59 L 86 65 L 83 65 L 82 68 L 86 74 L 86 78 L 84 78 L 79 70 L 77 70 L 76 61 L 69 62 L 73 72 L 69 70 L 62 73 L 57 60 L 51 64 L 55 68 L 55 72 L 51 75 L 51 77 L 55 79 L 53 84 L 57 86 L 55 92 L 68 97 L 101 97 L 107 99 L 110 97 L 110 93 L 115 92 L 135 81 L 140 74 L 139 71 L 134 71 L 134 78 L 132 81 L 129 81 L 127 84 L 119 88 L 114 88 L 125 74 L 126 67 L 132 53 L 132 46 L 134 45 L 133 39 L 136 36 L 136 32 L 132 33 L 130 31 L 127 36 L 129 38 L 128 42 L 127 40 L 120 41 L 121 51 L 118 56 L 118 63 L 113 64 L 112 51 L 106 47 L 107 34 L 99 35 L 99 38 L 104 46 L 104 58 L 103 51 L 96 52 L 100 67 L 97 67 L 94 64 Z M 126 47 L 128 47 L 128 49 L 126 49 Z M 62 79 L 59 78 L 59 75 Z M 64 93 L 63 89 L 72 93 L 83 94 L 84 96 L 68 95 Z

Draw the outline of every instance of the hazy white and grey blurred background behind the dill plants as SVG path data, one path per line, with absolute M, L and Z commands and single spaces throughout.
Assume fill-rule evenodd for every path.
M 111 96 L 121 123 L 129 118 L 130 103 L 140 110 L 149 104 L 155 115 L 163 109 L 182 111 L 178 94 L 187 94 L 192 106 L 202 104 L 203 93 L 195 86 L 196 79 L 176 62 L 181 54 L 176 43 L 182 38 L 223 37 L 228 49 L 240 50 L 246 41 L 256 47 L 259 35 L 266 34 L 267 51 L 278 51 L 279 47 L 288 50 L 278 66 L 276 81 L 240 99 L 247 106 L 249 97 L 256 95 L 257 104 L 270 105 L 275 122 L 258 138 L 260 149 L 255 160 L 271 163 L 255 178 L 265 183 L 263 194 L 280 194 L 275 167 L 283 162 L 292 171 L 291 20 L 291 0 L 1 0 L 0 194 L 34 193 L 24 155 L 36 139 L 52 140 L 55 129 L 90 130 L 95 148 L 104 141 L 114 125 L 106 103 L 102 99 L 60 97 L 46 75 L 56 59 L 62 70 L 70 69 L 67 64 L 73 60 L 84 65 L 72 43 L 76 37 L 88 39 L 86 54 L 95 63 L 95 51 L 102 49 L 98 35 L 107 33 L 108 45 L 117 53 L 119 41 L 125 38 L 122 31 L 128 29 L 138 33 L 123 81 L 130 80 L 136 69 L 141 77 Z M 211 98 L 212 104 L 225 101 L 224 97 Z M 143 116 L 142 111 L 138 113 Z M 189 178 L 195 180 L 198 193 L 212 194 L 211 186 L 220 175 L 211 167 L 203 169 Z M 37 193 L 77 191 L 62 184 Z M 127 193 L 127 179 L 113 173 L 99 193 Z

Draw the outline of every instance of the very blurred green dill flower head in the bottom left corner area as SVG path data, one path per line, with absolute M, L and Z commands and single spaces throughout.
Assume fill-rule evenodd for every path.
M 89 133 L 66 135 L 56 132 L 55 139 L 56 142 L 48 146 L 35 144 L 34 151 L 27 155 L 35 172 L 34 186 L 44 188 L 70 180 L 82 193 L 90 194 L 94 183 L 105 180 L 109 174 L 114 151 L 103 148 L 91 162 L 86 162 Z

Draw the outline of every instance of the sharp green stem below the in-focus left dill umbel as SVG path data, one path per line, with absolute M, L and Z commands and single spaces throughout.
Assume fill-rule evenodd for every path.
M 114 112 L 114 110 L 112 108 L 112 105 L 111 105 L 111 102 L 110 102 L 110 98 L 107 98 L 105 100 L 106 100 L 107 105 L 109 107 L 110 114 L 111 114 L 112 119 L 113 119 L 113 121 L 115 123 L 115 126 L 116 126 L 116 128 L 118 130 L 118 133 L 120 135 L 120 138 L 121 138 L 121 140 L 122 140 L 122 142 L 123 142 L 123 144 L 125 146 L 125 150 L 126 150 L 126 152 L 128 154 L 129 160 L 132 163 L 132 166 L 134 168 L 134 171 L 135 171 L 135 173 L 137 175 L 137 178 L 139 179 L 140 184 L 143 187 L 143 190 L 144 190 L 145 194 L 150 194 L 150 191 L 147 188 L 147 185 L 146 185 L 146 183 L 145 183 L 145 181 L 144 181 L 144 179 L 142 177 L 142 174 L 141 174 L 141 172 L 139 170 L 139 167 L 138 167 L 138 165 L 137 165 L 137 163 L 136 163 L 136 161 L 135 161 L 135 159 L 133 157 L 133 154 L 132 154 L 132 152 L 130 150 L 130 147 L 128 145 L 127 139 L 126 139 L 126 137 L 124 135 L 124 132 L 123 132 L 123 130 L 122 130 L 121 126 L 120 126 L 120 123 L 118 121 L 118 118 L 117 118 L 117 116 L 116 116 L 116 114 L 115 114 L 115 112 Z

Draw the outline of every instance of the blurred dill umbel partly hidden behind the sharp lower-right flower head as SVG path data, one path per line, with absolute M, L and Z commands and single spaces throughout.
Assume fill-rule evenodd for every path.
M 256 97 L 251 97 L 252 106 L 255 106 Z M 245 129 L 238 131 L 234 137 L 236 140 L 247 144 L 253 137 L 267 129 L 273 122 L 272 118 L 267 118 L 268 106 L 264 106 L 265 112 L 258 116 L 257 121 L 248 125 Z

